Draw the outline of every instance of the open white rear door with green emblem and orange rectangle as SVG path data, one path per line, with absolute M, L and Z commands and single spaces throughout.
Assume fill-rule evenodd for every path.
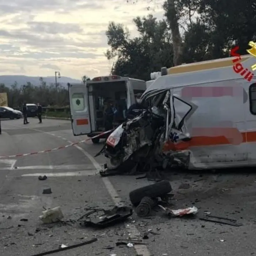
M 68 84 L 71 124 L 73 134 L 86 135 L 91 133 L 91 118 L 86 84 Z

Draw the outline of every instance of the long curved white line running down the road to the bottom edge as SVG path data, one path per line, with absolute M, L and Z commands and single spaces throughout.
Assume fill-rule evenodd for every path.
M 34 129 L 34 130 L 36 130 L 36 129 Z M 41 130 L 37 130 L 37 131 L 42 132 Z M 46 133 L 46 134 L 52 135 L 54 137 L 58 137 L 58 135 L 55 135 L 53 133 L 48 133 L 48 132 L 42 132 L 42 133 Z M 69 140 L 67 140 L 66 138 L 63 138 L 63 137 L 59 137 L 59 138 L 65 140 L 69 143 L 72 143 Z M 74 147 L 76 147 L 78 150 L 80 150 L 92 162 L 92 164 L 94 165 L 97 172 L 102 170 L 100 164 L 94 159 L 94 157 L 92 155 L 90 155 L 87 151 L 85 151 L 84 149 L 82 149 L 78 145 L 74 145 Z M 113 187 L 112 183 L 110 182 L 109 178 L 108 177 L 102 177 L 102 181 L 104 182 L 104 184 L 106 186 L 106 189 L 107 189 L 108 193 L 110 194 L 113 202 L 118 204 L 118 205 L 122 205 L 123 204 L 121 202 L 122 200 L 118 196 L 118 193 L 114 189 L 114 187 Z M 126 228 L 128 229 L 131 237 L 136 237 L 140 233 L 139 230 L 136 228 L 136 226 L 133 225 L 133 224 L 129 224 L 129 226 L 126 225 Z M 134 249 L 137 252 L 137 255 L 152 256 L 152 254 L 150 253 L 150 251 L 149 251 L 149 249 L 146 245 L 134 245 Z

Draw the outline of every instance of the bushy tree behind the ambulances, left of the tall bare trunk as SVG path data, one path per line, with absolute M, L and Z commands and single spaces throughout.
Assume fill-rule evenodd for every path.
M 171 36 L 164 20 L 153 15 L 133 20 L 139 36 L 129 38 L 129 31 L 121 24 L 111 22 L 106 31 L 110 49 L 108 59 L 114 59 L 112 74 L 149 80 L 150 72 L 172 64 Z M 116 37 L 116 38 L 115 38 Z

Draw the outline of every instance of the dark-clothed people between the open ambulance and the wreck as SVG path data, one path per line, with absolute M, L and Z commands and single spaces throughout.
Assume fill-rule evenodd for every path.
M 125 116 L 123 116 L 123 113 L 119 113 L 120 110 L 117 110 L 117 108 L 113 106 L 112 102 L 107 102 L 107 106 L 104 111 L 104 128 L 106 131 L 113 129 L 113 123 L 117 119 L 118 115 L 120 116 L 121 114 L 124 119 L 133 119 L 146 110 L 141 103 L 139 95 L 135 100 L 136 102 L 128 108 Z

